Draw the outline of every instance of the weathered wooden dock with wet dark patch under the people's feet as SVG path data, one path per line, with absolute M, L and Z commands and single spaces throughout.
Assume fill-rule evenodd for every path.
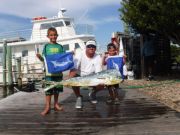
M 74 108 L 71 89 L 60 94 L 64 112 L 40 115 L 44 107 L 43 91 L 18 92 L 0 100 L 0 135 L 179 135 L 180 113 L 136 90 L 121 90 L 121 104 L 107 105 L 107 91 L 97 97 L 99 103 L 84 96 L 83 110 Z

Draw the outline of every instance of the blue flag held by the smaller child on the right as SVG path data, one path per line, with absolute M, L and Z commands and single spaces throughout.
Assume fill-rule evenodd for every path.
M 107 58 L 107 69 L 117 69 L 121 73 L 122 79 L 123 75 L 123 57 L 120 56 L 108 56 Z

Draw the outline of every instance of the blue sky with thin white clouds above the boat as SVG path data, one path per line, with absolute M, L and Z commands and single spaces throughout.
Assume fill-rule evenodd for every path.
M 61 8 L 74 18 L 75 24 L 88 24 L 93 28 L 97 43 L 106 46 L 112 32 L 123 32 L 120 20 L 121 0 L 1 0 L 0 36 L 31 28 L 31 18 L 57 16 Z M 11 4 L 9 4 L 11 3 Z

